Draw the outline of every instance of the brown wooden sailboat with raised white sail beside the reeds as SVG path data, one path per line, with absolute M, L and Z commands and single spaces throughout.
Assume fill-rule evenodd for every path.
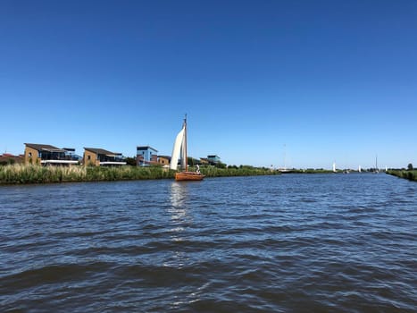
M 175 173 L 176 181 L 201 181 L 204 176 L 199 171 L 197 172 L 188 172 L 188 162 L 187 162 L 187 114 L 184 118 L 184 123 L 182 128 L 179 131 L 177 138 L 174 142 L 174 147 L 172 148 L 171 156 L 171 170 L 177 170 L 179 158 L 181 160 L 181 172 Z

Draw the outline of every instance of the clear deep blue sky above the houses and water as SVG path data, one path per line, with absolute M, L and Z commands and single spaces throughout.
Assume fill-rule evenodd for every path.
M 0 1 L 0 152 L 417 165 L 416 0 Z

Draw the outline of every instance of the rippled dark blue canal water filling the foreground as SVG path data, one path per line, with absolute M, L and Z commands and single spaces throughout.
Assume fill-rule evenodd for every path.
M 0 186 L 1 312 L 415 312 L 417 183 Z

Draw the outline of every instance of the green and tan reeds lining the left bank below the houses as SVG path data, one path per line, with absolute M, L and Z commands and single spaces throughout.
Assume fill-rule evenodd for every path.
M 232 166 L 218 168 L 202 166 L 201 173 L 207 177 L 250 176 L 276 174 L 267 168 L 252 166 Z M 48 183 L 48 182 L 101 182 L 148 179 L 173 179 L 175 171 L 161 166 L 42 166 L 4 165 L 0 166 L 1 184 Z

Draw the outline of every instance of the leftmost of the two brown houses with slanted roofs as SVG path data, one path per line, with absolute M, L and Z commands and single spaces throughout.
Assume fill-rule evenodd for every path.
M 80 161 L 74 148 L 56 148 L 51 145 L 25 143 L 25 164 L 76 165 Z

